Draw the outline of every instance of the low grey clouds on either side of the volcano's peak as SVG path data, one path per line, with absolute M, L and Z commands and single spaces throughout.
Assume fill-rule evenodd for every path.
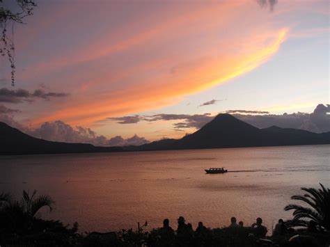
M 246 110 L 229 110 L 226 113 L 234 115 L 236 118 L 248 122 L 249 124 L 267 128 L 273 125 L 283 128 L 305 129 L 310 132 L 330 132 L 330 105 L 319 104 L 313 113 L 284 113 L 282 115 L 269 114 L 268 111 L 246 111 Z M 260 115 L 262 114 L 262 115 Z M 132 124 L 140 121 L 157 121 L 157 120 L 180 120 L 173 124 L 177 130 L 185 128 L 203 127 L 207 122 L 210 122 L 214 117 L 210 113 L 204 114 L 157 114 L 150 116 L 125 116 L 121 118 L 109 118 L 120 124 Z

